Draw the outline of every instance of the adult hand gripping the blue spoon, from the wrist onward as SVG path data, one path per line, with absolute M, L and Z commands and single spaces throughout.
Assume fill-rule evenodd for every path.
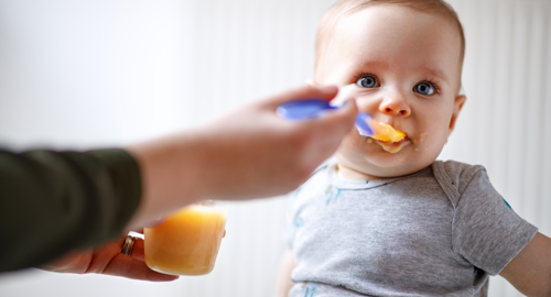
M 341 144 L 357 116 L 354 102 L 318 120 L 289 121 L 276 114 L 283 102 L 333 99 L 338 89 L 300 88 L 255 102 L 201 129 L 205 142 L 206 197 L 249 199 L 295 189 Z

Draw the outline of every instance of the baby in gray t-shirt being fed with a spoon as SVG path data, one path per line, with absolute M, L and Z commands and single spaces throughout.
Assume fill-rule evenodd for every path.
M 550 294 L 551 240 L 484 167 L 435 161 L 465 103 L 464 48 L 441 0 L 342 0 L 325 15 L 312 84 L 341 86 L 406 138 L 352 131 L 296 190 L 280 296 L 487 296 L 497 274 Z

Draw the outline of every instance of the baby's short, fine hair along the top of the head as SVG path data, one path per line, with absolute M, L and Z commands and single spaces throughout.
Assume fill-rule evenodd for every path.
M 443 16 L 450 21 L 457 30 L 461 37 L 461 52 L 460 52 L 460 79 L 463 69 L 463 59 L 465 57 L 465 34 L 463 33 L 463 25 L 455 10 L 443 0 L 341 0 L 333 6 L 327 13 L 323 16 L 317 28 L 315 41 L 315 66 L 314 72 L 317 74 L 320 68 L 320 61 L 325 55 L 327 50 L 328 40 L 335 29 L 336 23 L 341 18 L 349 13 L 359 11 L 361 9 L 380 6 L 380 4 L 398 4 L 411 8 L 413 10 L 432 13 Z M 461 85 L 461 82 L 460 82 Z

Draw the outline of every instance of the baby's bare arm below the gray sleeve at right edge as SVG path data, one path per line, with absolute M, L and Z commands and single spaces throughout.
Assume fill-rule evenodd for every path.
M 551 239 L 538 232 L 499 275 L 526 296 L 551 296 Z

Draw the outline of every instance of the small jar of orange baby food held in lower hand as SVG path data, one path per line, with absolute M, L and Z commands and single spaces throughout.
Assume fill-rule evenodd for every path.
M 145 264 L 173 275 L 202 275 L 213 271 L 226 226 L 226 210 L 193 205 L 145 228 Z

